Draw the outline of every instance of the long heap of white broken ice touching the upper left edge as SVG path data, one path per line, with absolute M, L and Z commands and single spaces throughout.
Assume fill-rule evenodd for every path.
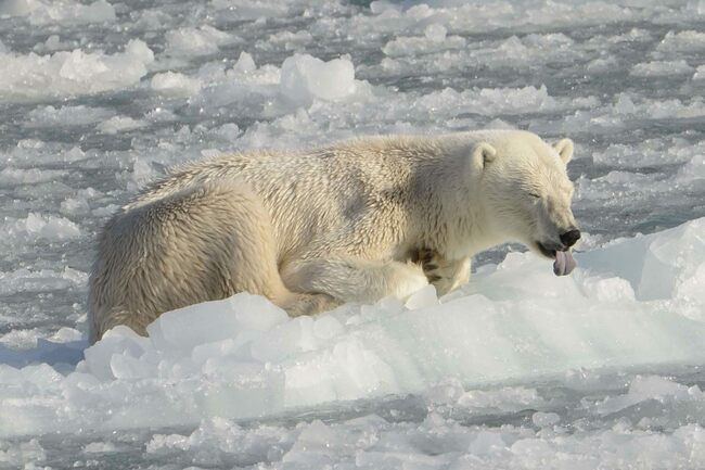
M 64 98 L 118 90 L 138 84 L 153 61 L 154 54 L 139 39 L 112 55 L 80 49 L 51 55 L 0 53 L 0 98 Z

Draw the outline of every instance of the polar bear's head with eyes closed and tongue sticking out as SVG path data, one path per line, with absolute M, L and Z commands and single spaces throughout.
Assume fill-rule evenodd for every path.
M 569 139 L 549 144 L 525 131 L 480 134 L 471 154 L 476 198 L 492 237 L 555 259 L 556 275 L 575 266 L 569 249 L 580 238 L 566 172 L 572 156 Z

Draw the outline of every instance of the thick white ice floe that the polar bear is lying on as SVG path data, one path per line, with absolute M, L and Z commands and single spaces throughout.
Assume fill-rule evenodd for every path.
M 0 436 L 265 417 L 423 391 L 434 403 L 501 408 L 539 398 L 523 389 L 502 398 L 434 386 L 448 378 L 479 385 L 705 359 L 705 218 L 579 261 L 572 277 L 555 279 L 535 255 L 511 253 L 440 303 L 428 287 L 406 305 L 385 298 L 289 318 L 266 298 L 241 293 L 166 313 L 148 327 L 149 338 L 116 327 L 66 377 L 47 364 L 0 365 Z M 76 342 L 63 350 L 42 343 L 28 357 L 46 357 L 42 347 L 70 361 Z M 624 404 L 602 406 L 629 406 L 650 386 L 637 383 Z M 534 418 L 539 427 L 554 420 Z M 171 444 L 150 448 L 164 445 Z

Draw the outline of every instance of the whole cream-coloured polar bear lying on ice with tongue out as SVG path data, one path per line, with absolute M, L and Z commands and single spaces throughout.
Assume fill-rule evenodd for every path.
M 183 165 L 105 225 L 91 343 L 247 291 L 291 316 L 467 282 L 473 254 L 518 241 L 569 272 L 580 237 L 573 143 L 518 130 L 366 137 Z

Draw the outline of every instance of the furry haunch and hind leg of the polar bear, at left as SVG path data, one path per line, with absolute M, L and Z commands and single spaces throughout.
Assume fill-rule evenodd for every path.
M 91 275 L 91 343 L 116 325 L 139 334 L 162 313 L 247 291 L 292 316 L 338 305 L 282 282 L 269 215 L 243 182 L 198 185 L 133 206 L 105 227 Z

